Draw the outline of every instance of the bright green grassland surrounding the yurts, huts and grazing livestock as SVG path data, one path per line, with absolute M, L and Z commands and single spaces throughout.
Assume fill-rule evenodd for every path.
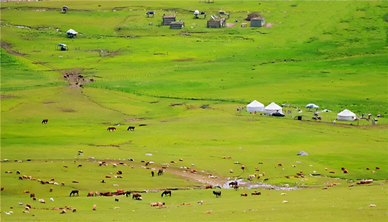
M 63 5 L 69 7 L 66 14 L 60 13 Z M 0 157 L 10 162 L 0 164 L 5 188 L 0 193 L 1 220 L 348 221 L 362 217 L 386 221 L 387 8 L 382 1 L 2 3 Z M 148 10 L 156 12 L 154 18 L 147 18 Z M 190 10 L 208 16 L 194 19 Z M 206 28 L 210 14 L 219 10 L 230 11 L 227 22 L 236 27 Z M 251 12 L 262 12 L 273 27 L 240 27 Z M 176 14 L 185 27 L 161 26 L 163 14 Z M 70 28 L 81 35 L 66 38 Z M 69 50 L 55 51 L 58 43 L 67 44 Z M 101 57 L 100 49 L 111 54 Z M 69 70 L 95 82 L 83 88 L 69 86 L 63 78 Z M 252 100 L 295 108 L 284 109 L 292 111 L 286 117 L 236 111 L 236 106 Z M 316 122 L 304 108 L 307 103 L 333 112 L 320 114 L 322 121 Z M 200 108 L 203 105 L 208 108 Z M 303 113 L 298 114 L 296 107 Z M 376 126 L 363 119 L 332 124 L 345 108 L 357 115 L 382 117 Z M 302 115 L 303 121 L 294 120 L 295 115 Z M 49 122 L 41 124 L 42 119 Z M 114 132 L 106 130 L 117 123 L 124 125 Z M 135 126 L 135 131 L 127 131 L 128 126 Z M 77 155 L 79 150 L 84 156 Z M 308 156 L 297 156 L 301 150 Z M 230 160 L 222 158 L 229 156 Z M 133 168 L 99 167 L 88 157 L 125 162 Z M 149 169 L 141 168 L 141 160 L 155 162 L 151 168 L 156 172 L 161 163 L 177 163 L 170 163 L 162 176 L 151 177 Z M 235 161 L 246 166 L 245 172 Z M 78 164 L 83 167 L 77 168 Z M 179 167 L 191 167 L 199 174 L 183 173 L 185 169 Z M 341 167 L 349 173 L 343 174 Z M 380 169 L 372 173 L 375 167 Z M 14 173 L 5 174 L 9 170 Z M 54 178 L 66 186 L 18 180 L 16 170 L 36 179 Z M 123 178 L 105 178 L 117 170 Z M 286 178 L 300 171 L 305 178 Z M 212 190 L 198 189 L 205 185 L 199 179 L 214 184 L 255 172 L 265 176 L 252 183 L 303 189 L 259 189 L 261 196 L 247 197 L 239 194 L 250 195 L 252 190 L 222 189 L 221 198 L 215 198 Z M 210 174 L 218 178 L 207 178 Z M 100 183 L 102 179 L 106 183 Z M 348 187 L 357 179 L 375 181 L 372 186 Z M 332 182 L 340 185 L 322 189 Z M 161 193 L 142 193 L 142 201 L 86 197 L 90 191 L 118 188 L 187 190 L 173 191 L 165 198 Z M 67 196 L 73 189 L 80 190 L 79 197 Z M 24 190 L 46 203 L 32 202 Z M 287 195 L 281 196 L 282 192 Z M 199 200 L 204 204 L 197 205 Z M 157 201 L 165 201 L 168 208 L 149 207 Z M 77 212 L 60 215 L 31 209 L 22 213 L 26 203 L 50 209 L 70 205 Z M 3 214 L 10 207 L 14 214 Z M 203 214 L 208 210 L 213 212 Z

